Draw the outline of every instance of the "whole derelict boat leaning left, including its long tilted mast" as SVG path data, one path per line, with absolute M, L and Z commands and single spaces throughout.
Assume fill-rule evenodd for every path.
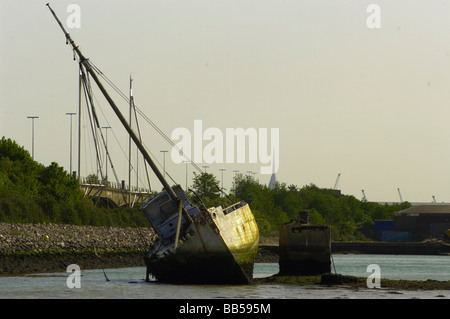
M 197 207 L 179 186 L 169 186 L 114 100 L 61 21 L 47 4 L 78 58 L 80 79 L 91 78 L 151 167 L 164 190 L 141 207 L 158 235 L 144 258 L 146 279 L 190 284 L 247 284 L 253 278 L 259 231 L 250 207 L 238 202 L 229 207 Z M 101 73 L 100 73 L 101 74 Z

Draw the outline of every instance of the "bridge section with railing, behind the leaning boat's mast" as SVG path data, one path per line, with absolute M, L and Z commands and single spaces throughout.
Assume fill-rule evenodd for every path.
M 124 183 L 120 187 L 115 183 L 109 185 L 82 183 L 80 186 L 84 195 L 92 199 L 96 206 L 108 208 L 133 207 L 136 203 L 146 202 L 154 194 L 146 189 L 128 191 Z

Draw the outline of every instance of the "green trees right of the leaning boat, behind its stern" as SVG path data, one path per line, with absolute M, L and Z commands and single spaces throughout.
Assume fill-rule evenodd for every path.
M 207 206 L 227 206 L 238 200 L 247 202 L 263 235 L 277 234 L 281 224 L 307 210 L 309 223 L 330 226 L 333 240 L 378 240 L 375 220 L 392 220 L 395 212 L 411 206 L 408 202 L 391 205 L 367 202 L 314 184 L 299 188 L 277 182 L 270 189 L 243 174 L 234 177 L 228 198 L 221 196 L 216 185 L 218 181 L 212 174 L 194 177 L 193 188 Z

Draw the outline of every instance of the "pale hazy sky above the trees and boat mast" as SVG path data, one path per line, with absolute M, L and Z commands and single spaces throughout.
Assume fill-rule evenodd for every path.
M 0 0 L 0 137 L 31 152 L 27 116 L 39 116 L 35 159 L 69 170 L 66 113 L 78 112 L 78 65 L 47 2 Z M 71 4 L 79 8 L 79 24 L 69 27 Z M 368 10 L 371 4 L 379 11 Z M 278 129 L 276 176 L 287 185 L 333 188 L 340 174 L 338 188 L 359 199 L 364 189 L 369 201 L 399 201 L 400 188 L 410 202 L 450 201 L 448 1 L 50 5 L 83 54 L 126 95 L 132 76 L 136 105 L 169 137 L 180 128 L 194 135 L 196 120 L 203 133 L 211 128 L 224 139 L 227 128 L 252 128 L 260 139 L 260 129 Z M 108 146 L 117 175 L 127 179 L 128 138 L 100 93 L 96 99 L 101 125 L 112 127 Z M 117 101 L 128 116 L 127 103 Z M 76 170 L 77 117 L 72 123 Z M 185 165 L 162 153 L 172 147 L 140 124 L 155 161 L 184 186 Z M 89 130 L 82 124 L 83 176 L 95 166 Z M 204 138 L 203 150 L 208 143 Z M 235 170 L 255 172 L 262 184 L 270 180 L 260 173 L 260 158 L 197 165 L 220 181 L 225 169 L 227 190 Z M 160 188 L 154 177 L 152 185 Z

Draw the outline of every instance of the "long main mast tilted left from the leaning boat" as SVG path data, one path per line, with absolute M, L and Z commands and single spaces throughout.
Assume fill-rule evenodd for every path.
M 109 96 L 109 93 L 106 91 L 106 89 L 104 88 L 103 84 L 100 82 L 99 78 L 97 77 L 97 74 L 94 72 L 94 70 L 92 69 L 91 65 L 89 64 L 89 60 L 86 59 L 85 56 L 81 53 L 80 49 L 75 44 L 75 42 L 72 40 L 72 38 L 70 37 L 70 34 L 67 33 L 67 31 L 64 29 L 64 26 L 62 25 L 61 21 L 58 19 L 58 17 L 56 16 L 56 13 L 53 11 L 53 9 L 50 7 L 50 5 L 48 3 L 47 3 L 47 7 L 50 9 L 51 13 L 55 17 L 55 19 L 58 22 L 59 26 L 63 30 L 64 35 L 66 36 L 66 39 L 67 39 L 67 43 L 70 43 L 70 45 L 72 46 L 74 52 L 80 58 L 80 62 L 79 62 L 80 65 L 83 65 L 84 68 L 86 69 L 86 71 L 92 76 L 92 78 L 94 79 L 94 81 L 97 84 L 98 88 L 103 93 L 105 99 L 108 101 L 108 103 L 111 106 L 111 108 L 113 109 L 114 113 L 116 113 L 116 115 L 119 118 L 120 122 L 125 127 L 125 129 L 127 130 L 128 134 L 130 135 L 130 137 L 133 140 L 133 142 L 136 144 L 136 146 L 139 149 L 139 151 L 141 152 L 142 156 L 144 156 L 144 159 L 147 161 L 147 163 L 152 168 L 153 172 L 155 173 L 156 177 L 159 179 L 159 181 L 163 185 L 163 187 L 166 190 L 166 192 L 168 193 L 169 197 L 172 200 L 178 202 L 180 199 L 175 194 L 173 189 L 169 186 L 169 184 L 167 183 L 166 179 L 164 178 L 164 176 L 159 171 L 158 167 L 155 165 L 155 163 L 151 159 L 150 155 L 146 151 L 144 145 L 142 145 L 142 143 L 139 140 L 139 138 L 137 137 L 136 133 L 134 133 L 133 129 L 128 125 L 127 120 L 125 119 L 125 117 L 120 112 L 120 110 L 117 107 L 116 103 Z

